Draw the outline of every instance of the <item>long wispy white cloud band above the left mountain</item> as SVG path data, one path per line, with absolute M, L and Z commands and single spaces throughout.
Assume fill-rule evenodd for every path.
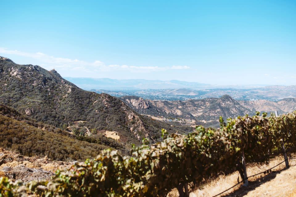
M 0 47 L 0 54 L 13 54 L 28 58 L 37 59 L 40 62 L 40 66 L 46 69 L 60 68 L 70 70 L 83 70 L 86 72 L 108 72 L 108 71 L 130 71 L 130 72 L 151 72 L 151 71 L 163 71 L 172 69 L 190 69 L 189 66 L 129 66 L 129 65 L 118 65 L 111 64 L 106 65 L 104 62 L 96 60 L 94 62 L 87 62 L 79 59 L 69 59 L 54 57 L 51 55 L 44 54 L 42 52 L 29 53 L 19 50 L 9 50 Z

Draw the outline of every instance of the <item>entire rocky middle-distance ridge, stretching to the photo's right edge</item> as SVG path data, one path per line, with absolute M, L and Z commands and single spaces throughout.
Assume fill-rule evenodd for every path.
M 279 113 L 287 113 L 296 110 L 295 98 L 287 98 L 277 102 L 267 100 L 239 101 L 229 95 L 186 101 L 154 101 L 135 97 L 121 97 L 121 99 L 141 114 L 193 119 L 197 123 L 209 123 L 208 126 L 217 125 L 220 116 L 227 119 L 246 114 L 254 115 L 256 111 L 273 112 L 277 110 Z M 135 104 L 131 100 L 135 100 Z M 149 103 L 149 107 L 139 107 L 140 105 L 137 104 L 139 101 Z

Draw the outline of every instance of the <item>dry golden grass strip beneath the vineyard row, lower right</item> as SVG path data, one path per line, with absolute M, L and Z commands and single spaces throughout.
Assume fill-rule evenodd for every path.
M 293 155 L 295 157 L 295 155 Z M 284 160 L 279 155 L 266 165 L 256 163 L 247 164 L 247 175 L 255 175 L 259 172 L 268 170 Z M 249 178 L 249 186 L 245 187 L 243 183 L 219 195 L 222 196 L 296 196 L 296 160 L 289 161 L 290 168 L 285 168 L 285 163 L 275 167 L 269 174 L 260 174 Z M 230 175 L 220 175 L 217 179 L 209 181 L 199 188 L 191 188 L 190 197 L 195 196 L 215 196 L 220 192 L 237 184 L 238 172 Z M 239 181 L 241 177 L 239 176 Z M 179 193 L 176 189 L 172 190 L 168 197 L 177 197 Z

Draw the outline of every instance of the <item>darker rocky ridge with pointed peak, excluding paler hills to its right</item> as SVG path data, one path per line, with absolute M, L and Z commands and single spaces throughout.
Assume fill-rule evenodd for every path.
M 219 120 L 238 115 L 252 114 L 228 95 L 221 98 L 192 99 L 187 101 L 154 101 L 142 98 L 121 98 L 126 104 L 142 114 L 174 118 L 194 119 L 196 121 Z M 145 107 L 144 104 L 148 103 Z M 149 106 L 149 107 L 148 107 Z

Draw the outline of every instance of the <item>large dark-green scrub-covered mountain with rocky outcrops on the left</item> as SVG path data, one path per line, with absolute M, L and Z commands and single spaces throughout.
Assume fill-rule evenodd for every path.
M 116 131 L 123 143 L 139 144 L 143 137 L 161 139 L 161 128 L 179 131 L 169 125 L 142 117 L 120 99 L 109 94 L 82 90 L 55 70 L 19 65 L 0 58 L 0 99 L 3 104 L 55 127 L 67 128 L 80 121 L 80 129 Z

